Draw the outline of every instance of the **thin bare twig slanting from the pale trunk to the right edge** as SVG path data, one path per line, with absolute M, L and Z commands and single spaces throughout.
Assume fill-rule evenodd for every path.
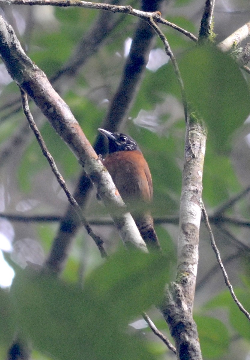
M 246 318 L 250 321 L 250 314 L 249 312 L 244 308 L 244 306 L 240 303 L 240 301 L 237 299 L 234 291 L 233 291 L 233 287 L 232 285 L 230 284 L 229 282 L 229 279 L 228 279 L 228 275 L 227 275 L 227 272 L 224 268 L 224 265 L 222 263 L 222 260 L 220 258 L 220 252 L 219 252 L 219 249 L 217 248 L 216 244 L 215 244 L 215 240 L 214 240 L 214 235 L 213 235 L 213 231 L 211 229 L 211 226 L 209 224 L 209 220 L 208 220 L 208 216 L 207 216 L 207 213 L 206 213 L 206 209 L 204 207 L 204 204 L 202 202 L 202 200 L 200 201 L 201 202 L 201 211 L 202 211 L 202 215 L 204 217 L 204 222 L 205 222 L 205 225 L 206 225 L 206 228 L 209 232 L 209 237 L 210 237 L 210 241 L 211 241 L 211 246 L 214 250 L 214 253 L 215 253 L 215 256 L 217 258 L 217 261 L 219 263 L 219 266 L 220 266 L 220 269 L 222 271 L 222 274 L 223 274 L 223 277 L 224 277 L 224 281 L 229 289 L 229 292 L 233 298 L 233 300 L 235 301 L 236 305 L 238 306 L 238 308 L 240 309 L 240 311 L 243 312 L 243 314 L 246 316 Z

